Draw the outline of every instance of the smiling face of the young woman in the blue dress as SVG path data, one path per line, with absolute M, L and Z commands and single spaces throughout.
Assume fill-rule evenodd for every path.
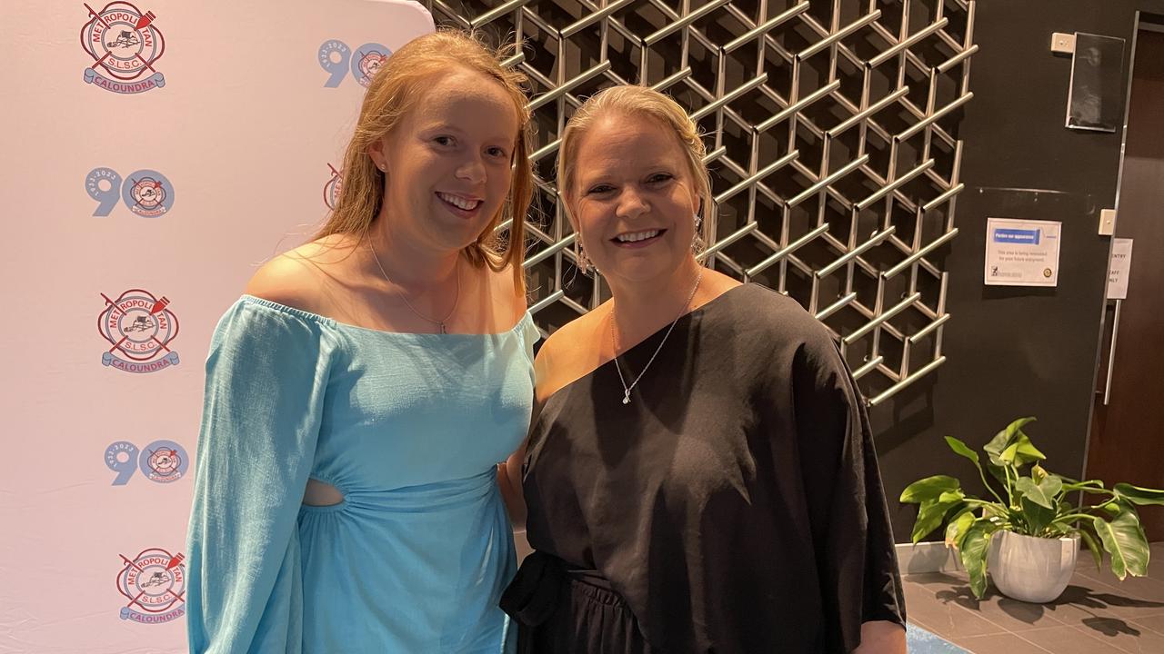
M 476 241 L 510 192 L 517 137 L 517 107 L 490 78 L 454 69 L 426 85 L 400 123 L 369 148 L 384 165 L 392 237 L 435 251 Z

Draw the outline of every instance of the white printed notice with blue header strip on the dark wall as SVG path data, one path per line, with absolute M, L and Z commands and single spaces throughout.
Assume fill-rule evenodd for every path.
M 986 219 L 986 285 L 1058 285 L 1062 230 L 1055 220 Z

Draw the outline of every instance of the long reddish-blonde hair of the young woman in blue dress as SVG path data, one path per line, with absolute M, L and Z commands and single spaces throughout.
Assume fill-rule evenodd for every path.
M 533 196 L 533 169 L 530 163 L 530 109 L 525 74 L 504 67 L 502 62 L 517 45 L 489 50 L 475 34 L 441 29 L 406 43 L 379 69 L 364 94 L 355 133 L 343 155 L 343 190 L 335 209 L 313 239 L 333 234 L 355 234 L 361 241 L 379 215 L 384 202 L 384 173 L 368 155 L 368 147 L 392 131 L 417 104 L 417 98 L 433 76 L 460 66 L 495 80 L 513 100 L 518 115 L 518 136 L 513 151 L 513 178 L 510 193 L 489 226 L 463 254 L 474 265 L 488 264 L 494 271 L 513 268 L 513 282 L 525 290 L 521 263 L 525 258 L 525 213 Z M 497 239 L 498 225 L 512 220 L 508 243 Z

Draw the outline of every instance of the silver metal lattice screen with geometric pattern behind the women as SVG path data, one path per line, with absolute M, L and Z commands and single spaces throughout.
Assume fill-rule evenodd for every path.
M 525 43 L 541 179 L 532 311 L 549 332 L 609 290 L 579 275 L 554 187 L 559 135 L 620 83 L 674 97 L 707 135 L 708 264 L 797 299 L 875 405 L 939 367 L 944 246 L 973 0 L 425 0 L 438 24 Z

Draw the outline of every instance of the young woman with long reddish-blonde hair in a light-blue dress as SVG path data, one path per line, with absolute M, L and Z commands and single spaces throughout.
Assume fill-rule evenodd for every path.
M 334 213 L 219 322 L 191 652 L 512 647 L 497 462 L 526 434 L 538 330 L 521 269 L 530 114 L 505 54 L 453 31 L 396 51 Z

